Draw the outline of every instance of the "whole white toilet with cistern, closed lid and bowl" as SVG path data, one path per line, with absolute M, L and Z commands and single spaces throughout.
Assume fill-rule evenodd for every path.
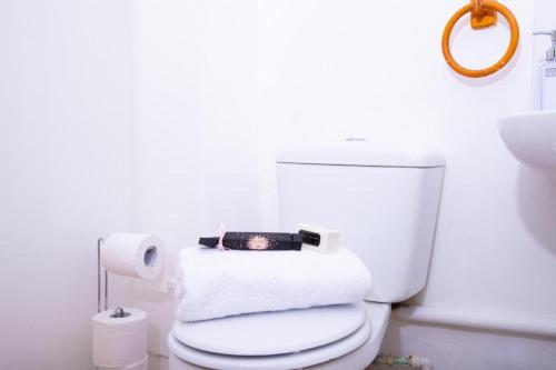
M 365 369 L 380 348 L 390 303 L 426 282 L 444 157 L 366 142 L 295 146 L 277 160 L 280 223 L 341 231 L 368 267 L 366 302 L 179 322 L 170 370 Z

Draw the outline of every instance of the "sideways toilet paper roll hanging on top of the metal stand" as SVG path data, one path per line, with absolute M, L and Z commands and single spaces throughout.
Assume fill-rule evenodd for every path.
M 148 233 L 112 233 L 100 254 L 109 272 L 142 279 L 156 279 L 166 260 L 162 240 Z

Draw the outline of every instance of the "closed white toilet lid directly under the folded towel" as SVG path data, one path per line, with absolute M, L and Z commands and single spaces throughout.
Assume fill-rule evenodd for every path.
M 172 327 L 179 342 L 206 352 L 272 356 L 325 346 L 357 331 L 366 321 L 365 303 L 305 310 L 248 313 L 182 322 Z

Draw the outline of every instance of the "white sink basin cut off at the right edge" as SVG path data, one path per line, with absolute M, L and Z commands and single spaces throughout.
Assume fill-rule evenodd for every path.
M 504 117 L 498 128 L 517 160 L 556 177 L 556 110 Z

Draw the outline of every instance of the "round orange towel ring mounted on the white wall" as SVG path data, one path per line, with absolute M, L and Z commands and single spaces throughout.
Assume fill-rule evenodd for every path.
M 496 12 L 503 14 L 509 24 L 509 30 L 512 36 L 506 53 L 504 54 L 504 57 L 502 57 L 502 59 L 498 62 L 485 69 L 479 69 L 479 70 L 467 69 L 465 67 L 461 67 L 458 62 L 456 62 L 456 60 L 451 56 L 449 47 L 451 31 L 454 30 L 454 26 L 457 23 L 457 21 L 468 12 L 473 13 L 473 26 L 475 29 L 495 24 Z M 488 20 L 486 19 L 487 17 L 489 17 Z M 483 18 L 485 18 L 486 21 L 481 23 Z M 451 69 L 454 69 L 459 74 L 469 78 L 480 78 L 493 74 L 503 69 L 514 57 L 518 43 L 519 43 L 519 24 L 517 23 L 516 18 L 508 8 L 493 0 L 484 0 L 484 1 L 471 0 L 470 3 L 463 7 L 454 16 L 451 16 L 450 20 L 446 24 L 443 34 L 443 53 L 444 58 L 446 59 L 446 62 L 451 67 Z

